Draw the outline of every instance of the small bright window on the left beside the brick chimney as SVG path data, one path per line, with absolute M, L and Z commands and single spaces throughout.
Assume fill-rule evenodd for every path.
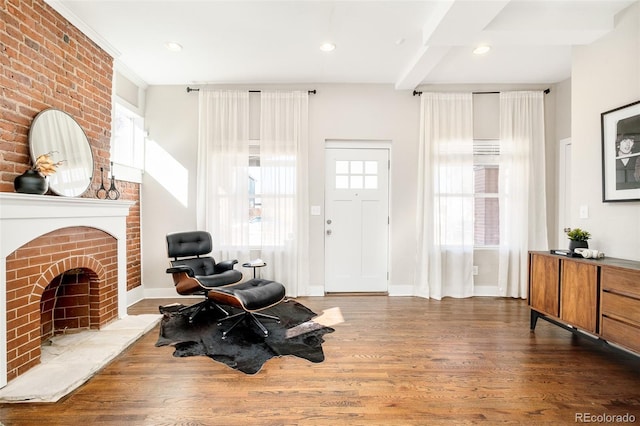
M 144 120 L 117 103 L 113 119 L 111 161 L 134 169 L 144 168 Z

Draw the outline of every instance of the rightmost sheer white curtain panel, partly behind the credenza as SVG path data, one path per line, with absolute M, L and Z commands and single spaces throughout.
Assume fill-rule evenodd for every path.
M 528 251 L 548 249 L 544 144 L 543 93 L 501 93 L 501 296 L 526 298 Z

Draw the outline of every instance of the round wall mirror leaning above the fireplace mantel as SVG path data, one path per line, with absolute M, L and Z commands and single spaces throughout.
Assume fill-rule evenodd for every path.
M 57 109 L 41 111 L 29 129 L 29 150 L 35 163 L 39 155 L 51 152 L 53 161 L 62 161 L 49 175 L 49 189 L 57 195 L 77 197 L 91 185 L 93 153 L 80 125 Z

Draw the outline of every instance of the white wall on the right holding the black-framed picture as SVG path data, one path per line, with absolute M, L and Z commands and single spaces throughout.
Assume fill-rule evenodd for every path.
M 600 136 L 602 112 L 640 100 L 640 2 L 619 14 L 612 33 L 573 49 L 571 81 L 572 227 L 591 232 L 591 248 L 640 260 L 640 202 L 602 202 Z

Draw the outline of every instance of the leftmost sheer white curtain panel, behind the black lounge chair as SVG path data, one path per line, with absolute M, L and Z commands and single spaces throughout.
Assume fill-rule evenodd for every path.
M 217 261 L 249 260 L 249 92 L 199 93 L 197 225 Z

